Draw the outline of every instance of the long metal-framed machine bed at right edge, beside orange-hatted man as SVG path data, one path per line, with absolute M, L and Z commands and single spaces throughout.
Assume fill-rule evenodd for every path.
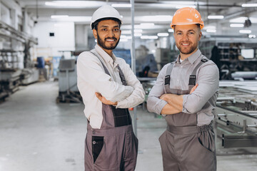
M 257 147 L 257 81 L 222 81 L 217 135 L 223 147 Z

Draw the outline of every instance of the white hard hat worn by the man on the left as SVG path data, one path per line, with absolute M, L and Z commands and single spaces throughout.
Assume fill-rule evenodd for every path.
M 121 15 L 119 14 L 119 11 L 114 9 L 114 7 L 112 6 L 104 5 L 104 6 L 101 6 L 99 9 L 96 9 L 96 11 L 94 12 L 90 23 L 91 29 L 93 29 L 92 24 L 94 24 L 95 21 L 99 19 L 104 19 L 104 18 L 115 18 L 121 21 Z

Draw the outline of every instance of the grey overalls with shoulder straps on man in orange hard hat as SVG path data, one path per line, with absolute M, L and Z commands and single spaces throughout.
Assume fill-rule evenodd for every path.
M 174 66 L 174 63 L 171 63 L 166 71 L 165 93 L 189 94 L 191 88 L 196 84 L 197 69 L 206 61 L 206 58 L 196 61 L 198 65 L 189 77 L 188 90 L 170 88 L 170 76 L 172 76 Z M 216 170 L 216 151 L 212 124 L 197 126 L 196 113 L 166 115 L 165 119 L 167 130 L 159 138 L 163 155 L 163 170 Z

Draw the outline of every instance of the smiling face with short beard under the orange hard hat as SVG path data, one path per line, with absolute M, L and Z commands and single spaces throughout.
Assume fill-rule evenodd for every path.
M 174 28 L 176 46 L 184 60 L 197 51 L 201 39 L 201 29 L 196 24 L 176 25 Z

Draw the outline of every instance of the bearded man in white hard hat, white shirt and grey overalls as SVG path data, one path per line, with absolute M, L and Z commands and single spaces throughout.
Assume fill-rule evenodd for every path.
M 77 61 L 78 88 L 88 119 L 85 170 L 135 170 L 138 140 L 128 108 L 144 100 L 144 90 L 133 71 L 112 51 L 121 36 L 121 16 L 109 5 L 97 9 L 91 28 L 95 48 Z

